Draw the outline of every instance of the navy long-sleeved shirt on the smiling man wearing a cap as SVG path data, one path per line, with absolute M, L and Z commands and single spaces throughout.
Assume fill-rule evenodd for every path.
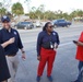
M 15 42 L 4 48 L 5 55 L 15 55 L 19 51 L 19 48 L 23 48 L 20 35 L 16 30 L 11 28 L 11 32 L 9 32 L 5 28 L 2 28 L 0 31 L 0 44 L 9 40 L 12 37 L 15 37 Z

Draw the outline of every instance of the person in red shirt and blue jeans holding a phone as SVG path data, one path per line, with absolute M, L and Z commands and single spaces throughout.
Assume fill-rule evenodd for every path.
M 81 36 L 80 36 L 79 40 L 73 40 L 73 43 L 78 46 L 75 59 L 79 60 L 79 77 L 73 82 L 80 82 L 80 80 L 81 80 L 81 70 L 83 68 L 83 32 L 81 33 Z

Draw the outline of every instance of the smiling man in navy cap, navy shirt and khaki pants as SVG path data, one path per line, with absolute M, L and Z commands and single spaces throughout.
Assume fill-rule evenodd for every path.
M 15 39 L 13 44 L 10 44 L 4 48 L 4 54 L 7 57 L 7 61 L 11 74 L 11 79 L 9 80 L 9 82 L 14 82 L 15 73 L 19 66 L 19 57 L 17 57 L 19 48 L 22 51 L 22 58 L 25 58 L 25 51 L 23 49 L 23 45 L 19 32 L 14 28 L 11 28 L 10 17 L 4 15 L 1 17 L 1 22 L 3 28 L 0 31 L 0 44 L 9 40 L 12 37 Z

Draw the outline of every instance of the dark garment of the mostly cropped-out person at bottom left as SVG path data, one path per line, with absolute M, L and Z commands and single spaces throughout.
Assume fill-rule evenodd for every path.
M 7 59 L 4 56 L 4 49 L 0 45 L 0 82 L 10 78 L 9 68 L 7 65 Z

